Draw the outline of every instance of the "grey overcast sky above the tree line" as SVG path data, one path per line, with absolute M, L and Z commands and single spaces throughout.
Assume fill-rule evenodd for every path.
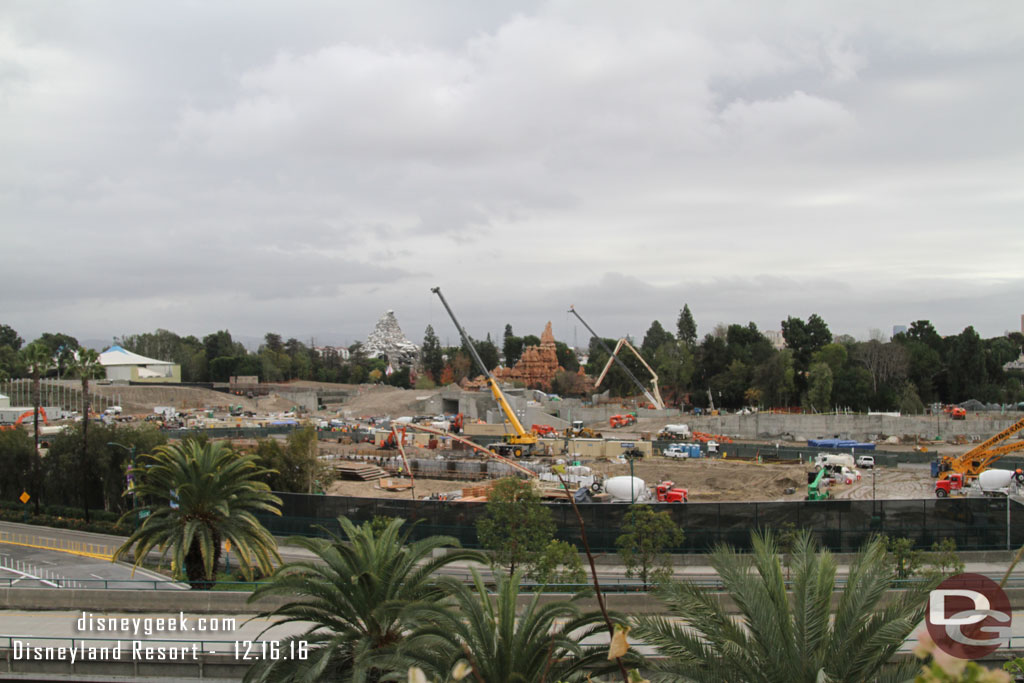
M 0 3 L 0 323 L 1024 313 L 1024 4 Z

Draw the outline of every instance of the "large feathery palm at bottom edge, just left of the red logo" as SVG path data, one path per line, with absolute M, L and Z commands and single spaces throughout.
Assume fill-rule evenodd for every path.
M 714 595 L 678 582 L 660 585 L 657 593 L 685 626 L 664 616 L 634 617 L 633 635 L 665 657 L 652 664 L 651 680 L 818 683 L 913 678 L 920 663 L 883 667 L 921 624 L 937 580 L 895 592 L 883 604 L 892 590 L 892 569 L 884 540 L 872 539 L 850 566 L 830 618 L 836 560 L 828 551 L 818 551 L 809 531 L 800 532 L 794 543 L 792 596 L 774 538 L 755 533 L 753 543 L 753 558 L 728 547 L 711 555 L 739 620 L 730 617 Z

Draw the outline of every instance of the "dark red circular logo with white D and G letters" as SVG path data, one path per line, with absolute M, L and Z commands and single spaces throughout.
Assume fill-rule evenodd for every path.
M 944 652 L 961 659 L 977 659 L 1009 644 L 1012 620 L 1006 592 L 980 573 L 946 579 L 928 596 L 929 635 Z

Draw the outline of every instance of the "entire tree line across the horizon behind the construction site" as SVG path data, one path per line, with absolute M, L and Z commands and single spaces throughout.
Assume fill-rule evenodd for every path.
M 1024 372 L 1004 370 L 1021 355 L 1024 335 L 1010 333 L 982 339 L 973 327 L 943 337 L 929 321 L 914 321 L 891 340 L 874 333 L 867 341 L 834 336 L 816 313 L 806 321 L 790 316 L 781 322 L 783 348 L 776 348 L 757 325 L 719 325 L 699 339 L 688 305 L 680 310 L 673 330 L 651 323 L 637 350 L 658 376 L 667 402 L 678 407 L 737 410 L 795 408 L 830 412 L 921 413 L 932 403 L 959 403 L 970 398 L 990 403 L 1024 401 Z M 337 349 L 316 350 L 298 339 L 267 333 L 255 351 L 249 351 L 220 330 L 202 339 L 181 337 L 167 330 L 126 335 L 115 341 L 124 348 L 181 366 L 183 382 L 226 382 L 231 376 L 256 375 L 264 382 L 317 380 L 359 384 L 383 382 L 403 388 L 431 388 L 479 375 L 464 346 L 442 346 L 427 326 L 415 368 L 393 368 L 386 358 L 370 357 L 362 344 L 348 347 L 349 357 Z M 604 342 L 602 345 L 601 342 Z M 487 335 L 472 341 L 487 370 L 513 367 L 525 348 L 539 345 L 534 335 L 517 336 L 505 326 L 501 346 Z M 613 339 L 592 338 L 587 349 L 587 374 L 596 378 L 608 360 L 604 348 Z M 24 341 L 0 325 L 0 378 L 28 377 L 30 364 Z M 78 341 L 66 334 L 46 333 L 33 342 L 51 354 L 51 375 L 65 376 Z M 572 348 L 556 341 L 562 372 L 550 389 L 563 395 L 585 395 L 593 387 L 578 375 L 580 362 Z M 627 350 L 620 358 L 633 374 L 650 376 L 640 359 Z M 625 372 L 613 365 L 598 391 L 613 396 L 638 393 Z

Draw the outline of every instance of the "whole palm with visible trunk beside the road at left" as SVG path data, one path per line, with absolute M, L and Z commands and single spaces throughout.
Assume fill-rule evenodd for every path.
M 133 546 L 135 566 L 154 548 L 164 557 L 170 552 L 194 589 L 210 588 L 222 541 L 230 542 L 249 579 L 254 564 L 270 573 L 273 562 L 281 562 L 276 542 L 254 514 L 280 515 L 281 499 L 262 481 L 270 470 L 258 466 L 255 456 L 237 454 L 223 441 L 185 439 L 159 445 L 139 460 L 135 495 L 151 502 L 122 519 L 143 511 L 148 514 L 114 559 Z

